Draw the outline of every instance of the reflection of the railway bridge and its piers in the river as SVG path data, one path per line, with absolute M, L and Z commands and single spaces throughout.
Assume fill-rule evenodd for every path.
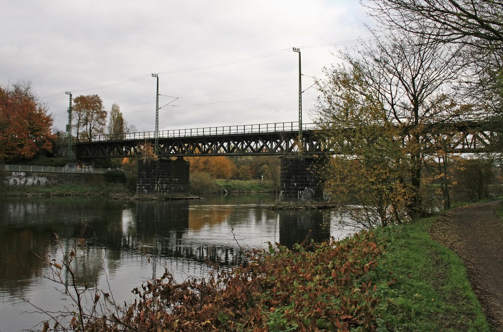
M 262 214 L 279 213 L 279 242 L 292 247 L 294 243 L 320 242 L 330 237 L 330 216 L 319 210 L 269 211 L 256 206 L 256 218 Z M 189 209 L 188 202 L 146 202 L 136 206 L 136 235 L 124 234 L 122 248 L 136 253 L 157 257 L 184 259 L 199 264 L 217 264 L 221 267 L 237 266 L 244 262 L 245 253 L 238 244 L 218 243 L 216 240 L 193 240 L 186 231 L 197 231 L 202 227 L 222 224 L 232 227 L 233 211 L 205 209 L 204 212 Z M 237 230 L 236 230 L 237 231 Z M 152 236 L 152 234 L 156 234 Z M 265 244 L 265 243 L 262 243 Z

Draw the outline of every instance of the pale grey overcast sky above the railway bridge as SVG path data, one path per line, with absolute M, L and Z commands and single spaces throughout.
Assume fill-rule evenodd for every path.
M 370 36 L 357 0 L 0 0 L 0 84 L 29 80 L 64 130 L 69 96 L 98 94 L 138 131 L 297 121 L 303 90 Z M 174 98 L 166 97 L 178 97 Z M 316 90 L 303 94 L 303 122 Z

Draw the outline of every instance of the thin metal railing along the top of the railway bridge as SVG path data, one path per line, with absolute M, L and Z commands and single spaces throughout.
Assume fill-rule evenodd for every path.
M 314 123 L 307 123 L 302 125 L 302 130 L 313 130 L 315 128 L 317 128 L 317 126 Z M 160 130 L 159 138 L 292 132 L 298 130 L 299 130 L 299 123 L 292 121 L 292 122 L 262 123 L 262 124 L 237 125 L 237 126 L 218 126 L 218 127 Z M 95 141 L 111 141 L 111 140 L 142 140 L 142 139 L 154 139 L 154 138 L 155 138 L 155 131 L 142 131 L 127 134 L 95 135 L 92 136 L 92 141 L 95 142 Z

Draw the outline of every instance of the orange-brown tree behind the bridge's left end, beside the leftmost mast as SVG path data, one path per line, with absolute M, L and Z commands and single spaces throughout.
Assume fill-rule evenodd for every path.
M 105 133 L 107 111 L 103 108 L 103 101 L 98 95 L 78 96 L 73 99 L 73 113 L 77 118 L 77 141 L 93 140 L 94 135 Z M 80 134 L 83 137 L 80 137 Z

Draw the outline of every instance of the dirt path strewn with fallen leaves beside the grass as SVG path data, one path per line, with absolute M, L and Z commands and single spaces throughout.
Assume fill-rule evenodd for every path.
M 498 204 L 454 209 L 430 233 L 461 258 L 489 324 L 503 331 L 503 221 L 495 212 Z

